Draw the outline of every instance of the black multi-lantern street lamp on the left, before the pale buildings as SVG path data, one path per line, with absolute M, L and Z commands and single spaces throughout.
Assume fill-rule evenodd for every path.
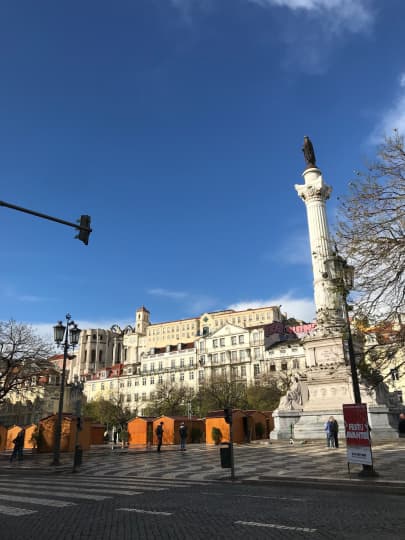
M 68 350 L 79 343 L 80 337 L 80 330 L 77 327 L 77 324 L 71 319 L 72 317 L 68 313 L 66 315 L 66 326 L 63 325 L 62 321 L 59 321 L 58 324 L 53 327 L 55 343 L 58 346 L 63 346 L 63 365 L 60 380 L 59 408 L 55 430 L 55 444 L 53 449 L 52 465 L 60 465 L 60 439 L 62 433 L 63 398 L 65 394 L 66 360 L 68 358 Z

